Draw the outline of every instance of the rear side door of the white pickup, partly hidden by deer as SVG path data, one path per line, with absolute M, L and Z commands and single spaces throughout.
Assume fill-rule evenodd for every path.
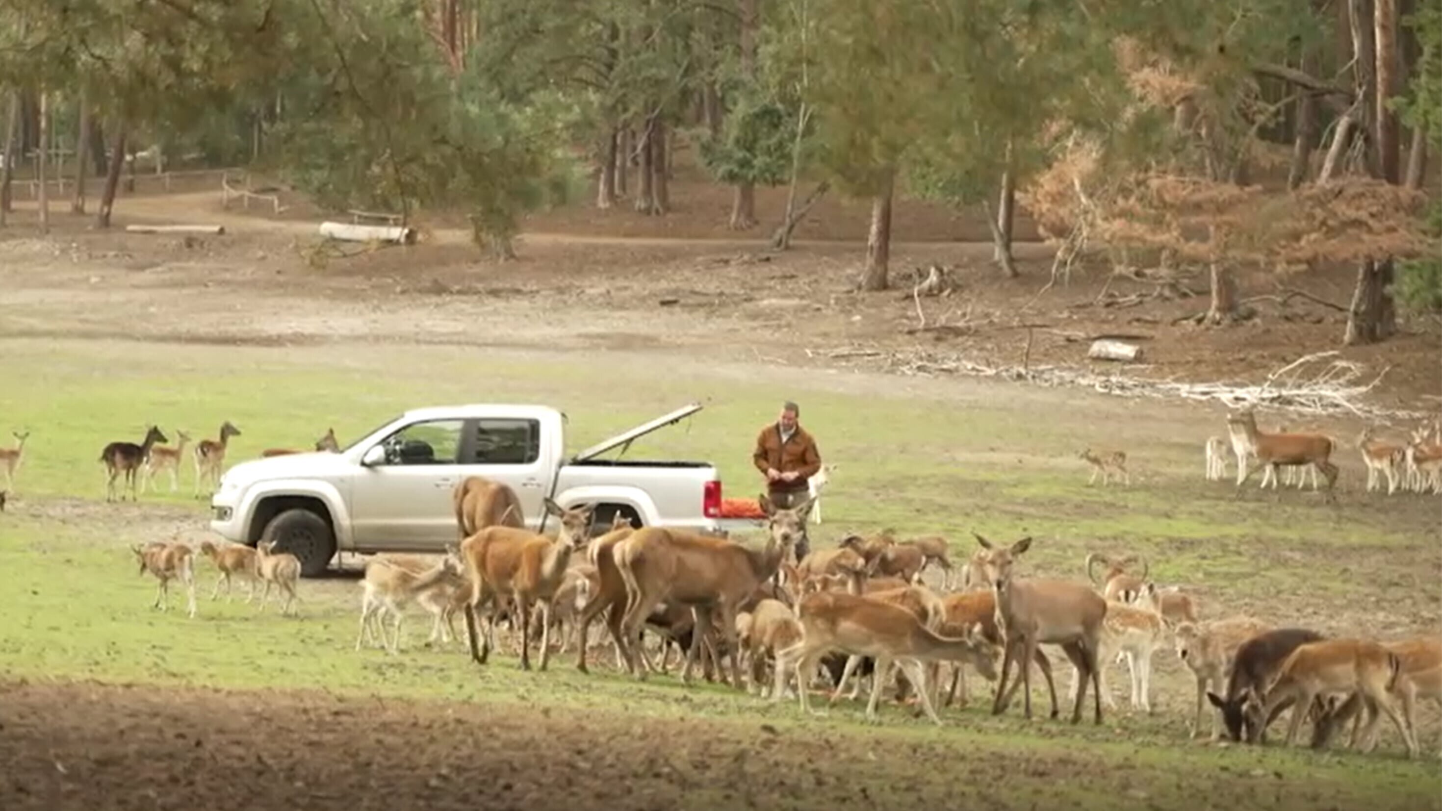
M 541 421 L 485 416 L 466 422 L 470 436 L 461 448 L 467 464 L 460 478 L 480 475 L 509 485 L 521 500 L 526 527 L 536 529 L 554 474 L 541 454 Z

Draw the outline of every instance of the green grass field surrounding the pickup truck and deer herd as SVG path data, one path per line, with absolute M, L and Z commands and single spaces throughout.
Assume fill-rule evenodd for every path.
M 1067 447 L 1067 436 L 1086 425 L 1076 415 L 1038 428 L 1035 419 L 1007 406 L 968 403 L 965 409 L 949 409 L 901 398 L 805 389 L 783 393 L 720 376 L 619 386 L 613 383 L 617 373 L 639 372 L 624 362 L 597 369 L 447 349 L 378 347 L 366 350 L 363 359 L 360 354 L 352 353 L 349 364 L 322 366 L 320 350 L 147 346 L 137 353 L 133 346 L 79 349 L 16 341 L 7 354 L 14 379 L 43 377 L 46 386 L 0 392 L 3 419 L 35 431 L 29 447 L 33 455 L 20 477 L 22 501 L 0 517 L 0 568 L 9 572 L 12 593 L 19 596 L 0 624 L 0 671 L 213 686 L 324 686 L 508 704 L 559 697 L 570 707 L 598 713 L 624 707 L 629 714 L 656 717 L 699 714 L 707 723 L 754 723 L 766 717 L 783 729 L 823 726 L 846 736 L 898 736 L 956 746 L 957 752 L 1024 752 L 1034 763 L 1028 771 L 1034 781 L 1015 791 L 1008 788 L 1007 798 L 1017 805 L 1027 805 L 1028 791 L 1041 792 L 1037 797 L 1050 791 L 1045 784 L 1051 766 L 1070 771 L 1066 763 L 1076 761 L 1080 740 L 1086 742 L 1083 759 L 1094 759 L 1102 774 L 1113 775 L 1079 785 L 1069 799 L 1082 807 L 1107 805 L 1122 785 L 1171 805 L 1165 801 L 1187 798 L 1217 778 L 1255 779 L 1265 788 L 1257 797 L 1276 807 L 1308 807 L 1302 802 L 1306 797 L 1341 807 L 1363 798 L 1379 807 L 1438 804 L 1432 763 L 1275 748 L 1185 746 L 1184 716 L 1177 709 L 1190 704 L 1188 696 L 1177 696 L 1169 712 L 1154 719 L 1113 716 L 1100 729 L 1043 722 L 1022 732 L 1015 712 L 992 719 L 973 709 L 952 714 L 943 730 L 904 720 L 894 710 L 884 727 L 864 730 L 857 723 L 859 713 L 849 709 L 838 709 L 826 720 L 800 719 L 790 706 L 769 710 L 717 687 L 681 691 L 668 678 L 636 686 L 610 674 L 581 677 L 570 657 L 547 676 L 521 674 L 509 660 L 477 676 L 454 653 L 417 650 L 398 660 L 373 651 L 355 654 L 353 583 L 307 582 L 301 619 L 275 617 L 274 608 L 257 618 L 247 606 L 205 601 L 212 581 L 203 565 L 202 615 L 187 622 L 176 614 L 183 601 L 174 596 L 170 615 L 146 608 L 154 583 L 136 576 L 121 547 L 138 540 L 127 534 L 125 519 L 112 533 L 102 533 L 92 524 L 66 526 L 39 517 L 30 508 L 32 497 L 98 498 L 102 481 L 94 460 L 99 447 L 112 438 L 138 439 L 146 421 L 200 435 L 231 419 L 244 431 L 232 444 L 232 458 L 238 460 L 265 447 L 309 445 L 327 425 L 345 442 L 402 408 L 464 400 L 558 405 L 571 413 L 570 445 L 577 448 L 681 402 L 715 398 L 689 428 L 658 434 L 633 455 L 712 460 L 735 496 L 754 487 L 747 455 L 757 426 L 771 416 L 776 400 L 789 396 L 803 402 L 805 422 L 819 435 L 823 454 L 842 464 L 826 501 L 823 536 L 893 526 L 903 533 L 946 532 L 960 545 L 970 529 L 996 539 L 1030 533 L 1041 539 L 1031 565 L 1071 576 L 1092 543 L 1125 540 L 1128 547 L 1155 553 L 1154 569 L 1161 576 L 1208 583 L 1237 596 L 1295 593 L 1298 581 L 1312 576 L 1295 566 L 1278 566 L 1217 585 L 1216 578 L 1252 568 L 1256 545 L 1292 550 L 1304 560 L 1325 559 L 1332 547 L 1340 552 L 1360 542 L 1394 550 L 1417 545 L 1417 524 L 1406 516 L 1377 530 L 1376 514 L 1319 508 L 1309 500 L 1292 498 L 1295 506 L 1285 508 L 1255 497 L 1234 503 L 1230 488 L 1198 484 L 1191 468 L 1200 464 L 1191 458 L 1197 454 L 1190 439 L 1148 447 L 1148 485 L 1128 493 L 1089 490 L 1077 465 L 1048 451 Z M 324 357 L 337 356 L 345 357 L 335 351 Z M 228 372 L 216 375 L 216 367 Z M 1002 452 L 1002 447 L 1008 451 Z M 193 504 L 199 529 L 200 507 L 189 498 L 189 475 L 186 471 L 179 497 L 147 500 Z M 138 510 L 144 508 L 143 501 Z M 123 506 L 117 513 L 138 510 Z M 95 506 L 75 513 L 98 516 L 101 510 Z M 1355 579 L 1338 581 L 1331 588 L 1340 593 L 1331 599 L 1355 599 L 1364 586 Z M 408 625 L 412 647 L 424 638 L 423 625 L 417 619 Z M 1123 671 L 1112 673 L 1113 691 L 1125 697 Z M 1064 689 L 1064 681 L 1058 687 Z M 1383 736 L 1384 746 L 1394 746 L 1393 732 Z M 960 776 L 955 771 L 936 774 L 942 788 Z

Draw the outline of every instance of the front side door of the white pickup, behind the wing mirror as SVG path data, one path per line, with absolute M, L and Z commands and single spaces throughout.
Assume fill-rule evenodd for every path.
M 451 491 L 469 465 L 466 419 L 412 422 L 379 442 L 384 458 L 362 465 L 350 487 L 350 530 L 371 549 L 421 549 L 454 543 Z

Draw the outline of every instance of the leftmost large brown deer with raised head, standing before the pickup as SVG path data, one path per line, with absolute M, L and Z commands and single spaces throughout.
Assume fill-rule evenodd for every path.
M 571 553 L 581 547 L 591 526 L 596 504 L 562 508 L 545 500 L 547 513 L 561 519 L 555 540 L 531 530 L 509 526 L 487 526 L 460 543 L 460 556 L 470 582 L 470 609 L 466 612 L 466 635 L 472 658 L 486 664 L 495 638 L 495 611 L 487 622 L 486 637 L 477 647 L 476 634 L 482 606 L 499 608 L 499 601 L 510 598 L 521 624 L 521 668 L 531 670 L 531 609 L 536 602 L 545 615 L 541 631 L 541 670 L 551 660 L 551 602 L 571 563 Z

